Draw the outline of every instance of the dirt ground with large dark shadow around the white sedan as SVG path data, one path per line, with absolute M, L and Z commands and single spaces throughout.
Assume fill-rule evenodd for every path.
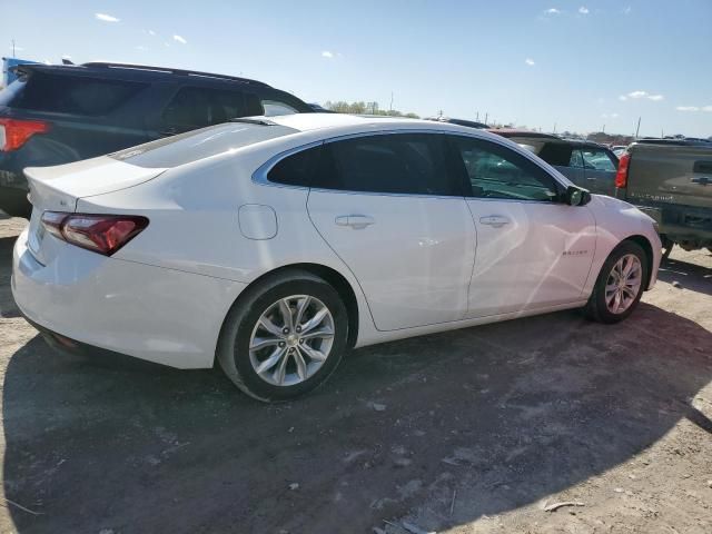
M 706 251 L 673 253 L 621 325 L 359 349 L 268 406 L 217 370 L 53 353 L 10 294 L 23 224 L 0 220 L 2 532 L 712 532 Z

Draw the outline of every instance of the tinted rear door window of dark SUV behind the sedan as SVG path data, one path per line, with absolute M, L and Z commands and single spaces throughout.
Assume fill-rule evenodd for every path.
M 219 125 L 236 117 L 263 115 L 261 105 L 247 112 L 241 91 L 184 87 L 168 102 L 162 113 L 164 126 L 175 131 L 186 131 L 205 126 Z

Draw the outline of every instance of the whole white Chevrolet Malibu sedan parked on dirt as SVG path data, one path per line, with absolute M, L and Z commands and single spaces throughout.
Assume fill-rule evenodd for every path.
M 335 113 L 236 119 L 26 169 L 14 247 L 24 316 L 66 348 L 243 390 L 312 390 L 349 347 L 584 308 L 627 317 L 661 243 L 506 139 Z

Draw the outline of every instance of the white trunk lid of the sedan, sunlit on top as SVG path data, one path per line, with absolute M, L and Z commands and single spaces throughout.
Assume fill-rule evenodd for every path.
M 165 170 L 137 167 L 108 156 L 56 167 L 28 167 L 24 175 L 33 208 L 28 235 L 30 253 L 39 263 L 47 265 L 56 256 L 58 247 L 67 246 L 44 231 L 41 224 L 43 211 L 73 212 L 80 198 L 134 187 Z

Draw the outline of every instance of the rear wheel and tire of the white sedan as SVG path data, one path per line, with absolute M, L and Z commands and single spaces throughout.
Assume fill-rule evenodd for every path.
M 310 273 L 287 270 L 248 288 L 230 309 L 217 357 L 251 397 L 288 400 L 329 377 L 347 338 L 347 310 L 336 289 Z

